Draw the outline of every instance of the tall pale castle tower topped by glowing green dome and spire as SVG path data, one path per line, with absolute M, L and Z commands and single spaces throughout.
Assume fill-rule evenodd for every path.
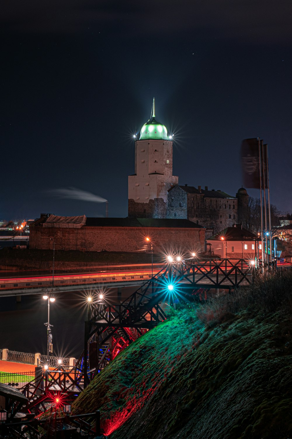
M 128 177 L 128 216 L 166 218 L 167 194 L 178 184 L 172 175 L 172 136 L 153 114 L 135 141 L 135 173 Z

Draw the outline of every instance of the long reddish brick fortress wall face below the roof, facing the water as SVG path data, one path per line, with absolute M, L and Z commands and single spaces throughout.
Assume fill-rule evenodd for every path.
M 58 228 L 31 226 L 30 248 L 81 251 L 141 251 L 146 236 L 151 237 L 154 252 L 204 251 L 205 229 L 184 227 L 81 227 Z M 150 251 L 150 246 L 148 251 Z

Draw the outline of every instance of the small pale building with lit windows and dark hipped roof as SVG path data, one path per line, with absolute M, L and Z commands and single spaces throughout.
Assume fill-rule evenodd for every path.
M 211 249 L 214 255 L 220 255 L 222 259 L 255 259 L 262 249 L 262 241 L 240 224 L 226 227 L 206 242 L 207 252 Z

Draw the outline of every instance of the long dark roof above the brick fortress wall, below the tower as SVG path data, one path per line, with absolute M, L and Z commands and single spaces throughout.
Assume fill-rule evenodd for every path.
M 202 226 L 188 219 L 160 218 L 86 218 L 85 226 L 89 227 L 172 227 L 200 229 Z

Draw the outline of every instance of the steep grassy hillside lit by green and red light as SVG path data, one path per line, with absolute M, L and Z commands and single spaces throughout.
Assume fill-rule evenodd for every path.
M 292 271 L 169 318 L 77 398 L 111 439 L 291 438 Z

